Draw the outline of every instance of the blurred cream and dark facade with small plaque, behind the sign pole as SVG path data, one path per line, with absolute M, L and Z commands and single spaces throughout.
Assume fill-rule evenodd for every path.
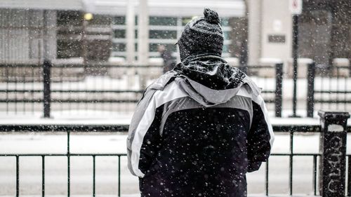
M 292 15 L 289 0 L 248 0 L 249 62 L 291 60 Z M 255 31 L 256 30 L 256 31 Z M 251 42 L 250 42 L 251 41 Z M 331 65 L 335 58 L 351 58 L 351 1 L 303 0 L 298 18 L 298 56 Z M 253 47 L 258 44 L 258 47 Z

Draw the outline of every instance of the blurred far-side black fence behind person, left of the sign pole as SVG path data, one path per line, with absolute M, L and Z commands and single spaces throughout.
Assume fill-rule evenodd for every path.
M 275 116 L 282 115 L 282 67 L 244 67 L 264 85 L 263 98 Z M 45 117 L 52 111 L 131 113 L 144 88 L 161 74 L 161 66 L 146 65 L 0 64 L 0 107 L 6 114 L 40 112 Z

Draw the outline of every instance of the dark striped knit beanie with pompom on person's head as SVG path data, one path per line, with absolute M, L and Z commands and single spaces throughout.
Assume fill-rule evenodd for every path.
M 223 31 L 216 11 L 204 9 L 204 17 L 195 18 L 185 25 L 178 40 L 180 60 L 190 55 L 222 55 Z

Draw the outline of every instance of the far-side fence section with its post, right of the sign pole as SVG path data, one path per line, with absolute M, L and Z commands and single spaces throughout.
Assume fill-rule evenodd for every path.
M 351 111 L 351 67 L 308 64 L 307 117 L 315 109 Z

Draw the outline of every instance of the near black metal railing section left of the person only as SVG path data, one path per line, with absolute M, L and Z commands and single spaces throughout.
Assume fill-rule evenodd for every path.
M 128 125 L 1 125 L 0 133 L 18 133 L 18 132 L 35 132 L 35 133 L 67 133 L 67 151 L 65 154 L 1 154 L 0 157 L 14 157 L 15 158 L 15 196 L 20 196 L 20 158 L 23 157 L 40 157 L 41 158 L 41 196 L 45 196 L 45 172 L 46 158 L 49 157 L 67 157 L 67 196 L 71 196 L 71 158 L 79 156 L 89 156 L 93 158 L 93 191 L 92 195 L 96 195 L 95 186 L 95 158 L 108 156 L 118 158 L 118 171 L 117 171 L 117 196 L 121 196 L 121 157 L 126 156 L 126 154 L 79 154 L 71 152 L 71 133 L 118 133 L 125 132 L 128 130 Z M 1 167 L 0 167 L 1 168 Z

